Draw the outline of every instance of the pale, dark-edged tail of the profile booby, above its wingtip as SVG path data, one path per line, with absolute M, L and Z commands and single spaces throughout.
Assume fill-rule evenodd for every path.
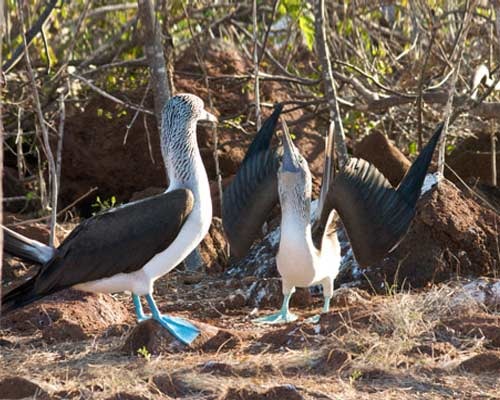
M 13 230 L 3 227 L 4 250 L 12 256 L 37 264 L 51 260 L 57 250 L 41 242 L 29 239 Z

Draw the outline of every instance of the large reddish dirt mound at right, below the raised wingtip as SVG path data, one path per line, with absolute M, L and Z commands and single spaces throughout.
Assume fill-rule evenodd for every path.
M 423 287 L 457 276 L 500 272 L 498 216 L 443 179 L 425 193 L 401 244 L 380 264 L 364 271 L 367 288 Z

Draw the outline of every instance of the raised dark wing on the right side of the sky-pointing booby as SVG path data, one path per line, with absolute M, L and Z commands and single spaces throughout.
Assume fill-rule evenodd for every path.
M 361 266 L 380 261 L 403 239 L 415 215 L 427 169 L 443 126 L 440 125 L 397 189 L 372 164 L 352 158 L 340 171 L 325 201 L 335 208 Z

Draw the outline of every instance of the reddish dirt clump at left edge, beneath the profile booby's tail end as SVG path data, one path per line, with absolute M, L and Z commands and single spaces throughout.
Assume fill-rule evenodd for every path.
M 5 315 L 2 326 L 20 336 L 41 332 L 47 343 L 58 343 L 85 340 L 129 320 L 113 297 L 68 289 Z

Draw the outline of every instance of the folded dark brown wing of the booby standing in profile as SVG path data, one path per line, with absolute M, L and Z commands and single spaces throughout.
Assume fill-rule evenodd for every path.
M 192 208 L 192 193 L 179 189 L 82 222 L 33 278 L 32 293 L 139 270 L 173 242 Z

